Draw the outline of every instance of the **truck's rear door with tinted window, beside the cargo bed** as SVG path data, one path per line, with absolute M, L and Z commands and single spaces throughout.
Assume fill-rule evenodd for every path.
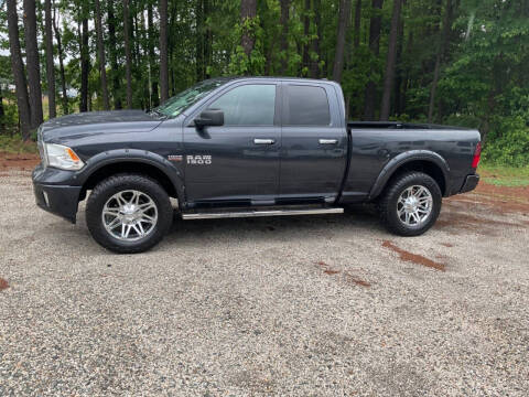
M 347 161 L 345 118 L 334 87 L 283 82 L 280 197 L 334 201 Z

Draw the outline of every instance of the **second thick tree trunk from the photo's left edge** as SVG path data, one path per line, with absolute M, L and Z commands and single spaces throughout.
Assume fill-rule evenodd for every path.
M 42 121 L 41 62 L 36 43 L 35 0 L 24 0 L 25 60 L 28 62 L 28 87 L 30 88 L 31 128 Z

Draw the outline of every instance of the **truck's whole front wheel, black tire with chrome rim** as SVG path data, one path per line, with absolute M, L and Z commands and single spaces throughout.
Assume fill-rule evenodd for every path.
M 86 224 L 94 239 L 118 254 L 145 251 L 169 232 L 173 208 L 165 190 L 140 174 L 117 174 L 101 181 L 86 204 Z

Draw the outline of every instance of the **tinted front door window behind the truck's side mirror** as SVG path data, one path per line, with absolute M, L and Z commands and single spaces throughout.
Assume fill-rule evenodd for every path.
M 249 84 L 236 87 L 208 108 L 224 111 L 225 126 L 273 126 L 276 85 Z

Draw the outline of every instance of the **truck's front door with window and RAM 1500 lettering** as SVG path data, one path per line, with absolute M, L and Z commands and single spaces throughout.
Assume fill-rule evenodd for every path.
M 277 197 L 281 147 L 277 92 L 270 83 L 230 87 L 205 106 L 224 111 L 224 126 L 184 128 L 190 203 Z

